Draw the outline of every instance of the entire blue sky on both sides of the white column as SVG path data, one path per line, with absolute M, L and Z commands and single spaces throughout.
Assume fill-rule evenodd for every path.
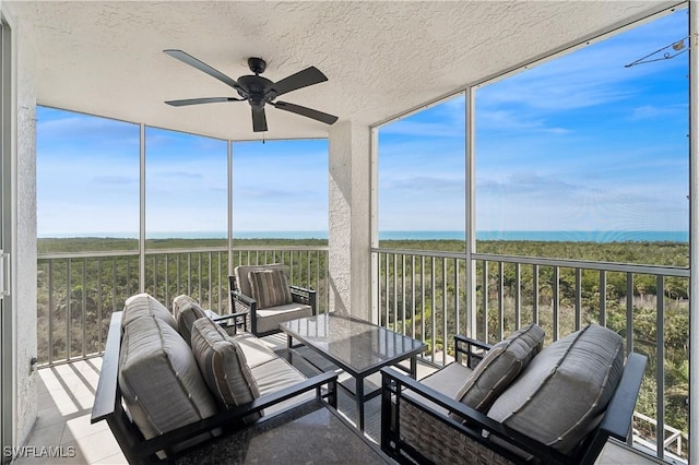
M 686 10 L 476 91 L 478 230 L 687 230 Z M 670 50 L 673 52 L 673 50 Z M 380 230 L 464 229 L 465 100 L 379 131 Z M 38 234 L 132 234 L 139 128 L 39 107 Z M 225 231 L 224 141 L 149 128 L 146 230 Z M 69 162 L 67 162 L 69 160 Z M 234 230 L 327 230 L 328 141 L 234 143 Z

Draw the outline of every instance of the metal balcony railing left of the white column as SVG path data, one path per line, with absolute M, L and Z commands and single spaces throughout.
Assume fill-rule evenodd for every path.
M 37 358 L 52 366 L 98 356 L 111 312 L 143 288 L 169 307 L 187 294 L 216 313 L 229 310 L 226 248 L 149 250 L 140 276 L 138 251 L 47 253 L 37 263 Z M 327 247 L 234 248 L 233 267 L 285 263 L 291 283 L 318 293 L 318 310 L 329 302 Z

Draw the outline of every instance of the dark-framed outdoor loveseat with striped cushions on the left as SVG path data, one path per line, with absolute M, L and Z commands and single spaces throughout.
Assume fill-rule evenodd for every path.
M 140 294 L 111 317 L 91 421 L 107 421 L 129 463 L 171 461 L 317 397 L 336 407 L 335 373 L 307 379 L 186 296 L 173 308 Z

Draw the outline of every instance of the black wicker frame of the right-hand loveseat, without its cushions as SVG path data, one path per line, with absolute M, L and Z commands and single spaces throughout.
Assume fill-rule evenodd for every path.
M 457 336 L 455 345 L 457 359 L 465 355 L 470 368 L 490 348 L 464 336 Z M 645 361 L 644 356 L 629 354 L 602 420 L 568 454 L 446 395 L 440 392 L 441 388 L 435 389 L 439 386 L 434 382 L 429 386 L 427 380 L 415 381 L 384 368 L 381 370 L 381 449 L 400 463 L 593 464 L 608 438 L 626 441 Z M 455 363 L 461 367 L 459 362 L 452 365 Z M 442 370 L 447 369 L 450 366 Z M 453 414 L 464 421 L 453 419 Z

